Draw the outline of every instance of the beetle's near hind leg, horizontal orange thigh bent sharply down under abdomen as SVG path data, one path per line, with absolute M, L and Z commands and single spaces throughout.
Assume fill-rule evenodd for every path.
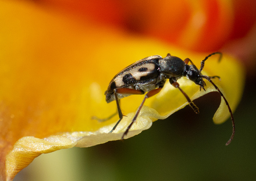
M 124 116 L 122 111 L 121 111 L 121 108 L 120 108 L 120 102 L 119 102 L 117 93 L 119 93 L 119 94 L 133 94 L 133 95 L 144 94 L 143 91 L 136 90 L 136 89 L 129 89 L 129 88 L 117 88 L 117 89 L 114 89 L 114 96 L 115 96 L 115 99 L 116 99 L 116 102 L 117 102 L 117 112 L 118 112 L 118 115 L 119 115 L 119 120 L 117 121 L 117 123 L 113 127 L 113 129 L 111 129 L 111 131 L 109 131 L 109 133 L 112 133 L 113 130 L 115 130 L 117 128 L 117 125 L 120 123 L 120 121 L 123 119 L 123 116 Z

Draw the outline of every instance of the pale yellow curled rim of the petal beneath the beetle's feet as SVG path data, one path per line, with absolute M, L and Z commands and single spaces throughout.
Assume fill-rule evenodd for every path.
M 219 81 L 218 79 L 213 81 L 215 82 L 216 85 L 218 85 L 218 88 L 223 92 L 226 98 L 230 100 L 230 107 L 232 110 L 234 110 L 241 99 L 244 76 L 243 76 L 243 69 L 239 68 L 241 67 L 241 65 L 239 65 L 238 63 L 233 63 L 233 59 L 231 59 L 230 61 L 223 61 L 224 64 L 221 66 L 223 69 L 225 69 L 226 65 L 231 66 L 230 69 L 226 70 L 226 72 L 223 74 L 224 81 Z M 234 70 L 236 70 L 236 74 L 232 74 Z M 232 74 L 233 78 L 232 79 L 226 78 L 227 75 L 225 76 L 225 74 Z M 222 75 L 220 76 L 222 77 Z M 240 80 L 240 81 L 237 81 L 237 80 Z M 191 92 L 190 91 L 187 92 L 190 95 L 192 95 L 190 96 L 191 100 L 195 100 L 200 96 L 203 96 L 209 92 L 217 92 L 217 90 L 213 87 L 213 85 L 211 85 L 207 81 L 206 81 L 206 84 L 207 84 L 206 91 L 200 91 L 198 86 L 192 84 L 192 82 L 188 81 L 186 78 L 181 78 L 179 81 L 182 89 L 191 90 Z M 226 85 L 227 82 L 230 85 Z M 231 86 L 233 89 L 230 89 Z M 152 125 L 152 122 L 158 119 L 165 119 L 169 115 L 185 107 L 188 104 L 186 100 L 184 100 L 184 102 L 179 104 L 180 106 L 177 106 L 173 109 L 169 109 L 167 111 L 167 114 L 161 113 L 161 110 L 162 110 L 161 106 L 166 107 L 166 104 L 161 105 L 163 104 L 161 101 L 166 102 L 166 97 L 168 97 L 167 94 L 169 94 L 169 96 L 171 95 L 171 99 L 173 99 L 173 91 L 176 91 L 176 90 L 177 89 L 174 89 L 173 87 L 171 87 L 169 84 L 166 83 L 162 91 L 158 95 L 154 96 L 154 98 L 152 97 L 152 99 L 148 101 L 149 102 L 148 104 L 143 106 L 136 120 L 136 123 L 133 124 L 128 135 L 124 139 L 133 137 L 141 133 L 143 130 L 149 129 Z M 236 90 L 236 91 L 233 91 L 233 90 Z M 179 96 L 177 97 L 179 98 Z M 92 131 L 92 132 L 88 132 L 88 131 L 87 132 L 62 132 L 49 137 L 45 137 L 43 139 L 30 137 L 30 136 L 20 138 L 15 143 L 15 145 L 13 146 L 13 149 L 8 153 L 6 157 L 7 180 L 12 180 L 20 170 L 28 166 L 34 160 L 34 158 L 38 157 L 42 153 L 50 153 L 60 149 L 66 149 L 66 148 L 72 148 L 72 147 L 81 147 L 81 148 L 90 147 L 97 144 L 103 144 L 111 140 L 120 140 L 125 129 L 130 124 L 134 115 L 135 115 L 135 112 L 127 114 L 127 116 L 123 118 L 123 120 L 117 126 L 117 129 L 113 131 L 113 133 L 109 133 L 109 131 L 113 128 L 115 123 L 109 124 L 107 126 L 103 126 L 97 131 Z M 219 124 L 227 120 L 229 116 L 230 115 L 226 107 L 226 103 L 222 98 L 220 106 L 218 107 L 218 110 L 216 111 L 213 120 L 216 124 Z

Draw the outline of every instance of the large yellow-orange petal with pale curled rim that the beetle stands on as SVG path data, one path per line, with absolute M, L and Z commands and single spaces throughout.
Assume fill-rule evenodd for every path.
M 146 56 L 167 53 L 182 59 L 190 57 L 199 66 L 206 56 L 67 18 L 25 2 L 0 1 L 0 22 L 4 27 L 0 29 L 4 42 L 0 44 L 0 180 L 13 179 L 42 153 L 119 140 L 143 96 L 122 100 L 127 117 L 113 133 L 109 131 L 117 116 L 106 122 L 91 120 L 91 116 L 104 118 L 116 111 L 114 102 L 105 102 L 104 91 L 125 66 Z M 224 55 L 221 63 L 217 59 L 208 59 L 203 73 L 221 76 L 222 80 L 215 83 L 234 110 L 241 98 L 243 70 L 232 57 Z M 192 99 L 216 91 L 207 84 L 207 92 L 200 92 L 186 78 L 179 83 Z M 167 83 L 145 105 L 125 138 L 184 107 L 186 100 Z M 223 102 L 218 110 L 215 122 L 220 123 L 229 112 Z

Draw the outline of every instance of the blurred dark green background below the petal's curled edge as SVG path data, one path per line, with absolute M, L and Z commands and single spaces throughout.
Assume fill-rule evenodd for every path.
M 220 103 L 215 92 L 194 101 L 199 115 L 187 106 L 130 139 L 41 155 L 14 180 L 255 180 L 255 88 L 255 78 L 247 78 L 228 146 L 230 119 L 221 125 L 212 121 Z

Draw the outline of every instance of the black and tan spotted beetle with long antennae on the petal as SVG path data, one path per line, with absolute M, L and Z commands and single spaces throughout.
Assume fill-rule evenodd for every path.
M 126 67 L 124 70 L 121 70 L 110 81 L 109 87 L 105 92 L 107 103 L 113 100 L 116 100 L 117 113 L 119 115 L 119 120 L 116 123 L 116 125 L 113 127 L 113 129 L 110 131 L 110 133 L 116 129 L 117 125 L 119 124 L 119 122 L 122 120 L 124 116 L 120 109 L 120 102 L 119 102 L 120 99 L 130 95 L 145 94 L 147 92 L 142 103 L 137 109 L 136 114 L 132 119 L 132 122 L 125 130 L 122 136 L 122 139 L 123 139 L 124 136 L 127 135 L 132 124 L 136 121 L 136 118 L 138 117 L 139 111 L 141 110 L 145 100 L 151 96 L 154 96 L 158 92 L 160 92 L 166 82 L 166 79 L 169 79 L 170 84 L 173 85 L 173 87 L 178 88 L 183 93 L 183 95 L 186 97 L 188 101 L 189 106 L 192 107 L 192 109 L 198 114 L 199 113 L 198 107 L 196 107 L 196 105 L 190 100 L 188 95 L 180 88 L 180 85 L 177 83 L 177 80 L 181 77 L 187 77 L 189 80 L 199 85 L 200 90 L 201 89 L 205 90 L 204 87 L 206 84 L 203 81 L 203 78 L 204 78 L 207 81 L 211 82 L 211 84 L 215 87 L 215 89 L 218 90 L 219 94 L 225 100 L 226 105 L 230 111 L 233 131 L 232 131 L 230 140 L 228 140 L 226 145 L 230 144 L 235 134 L 235 123 L 234 123 L 233 113 L 231 111 L 230 105 L 226 100 L 225 96 L 222 94 L 220 89 L 218 89 L 218 87 L 211 81 L 212 78 L 219 78 L 219 77 L 218 76 L 210 77 L 207 75 L 202 75 L 201 73 L 204 67 L 204 62 L 211 55 L 215 55 L 215 54 L 220 55 L 219 60 L 222 58 L 221 52 L 214 52 L 208 55 L 207 57 L 205 57 L 205 59 L 201 61 L 201 67 L 199 70 L 192 63 L 190 59 L 187 58 L 182 60 L 179 57 L 170 55 L 169 53 L 165 58 L 162 58 L 160 55 L 146 57 Z M 191 64 L 188 65 L 189 62 Z M 96 117 L 94 117 L 94 119 L 105 121 L 107 119 L 112 118 L 117 113 L 111 115 L 109 118 L 106 118 L 106 119 L 99 119 Z

